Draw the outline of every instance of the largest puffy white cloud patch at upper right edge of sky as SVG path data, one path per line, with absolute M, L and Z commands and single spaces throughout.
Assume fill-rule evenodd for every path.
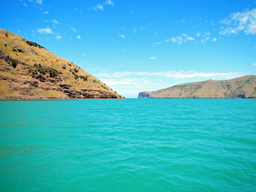
M 238 34 L 240 31 L 244 31 L 246 35 L 256 34 L 256 8 L 241 13 L 231 13 L 228 18 L 220 22 L 227 26 L 221 28 L 221 35 Z

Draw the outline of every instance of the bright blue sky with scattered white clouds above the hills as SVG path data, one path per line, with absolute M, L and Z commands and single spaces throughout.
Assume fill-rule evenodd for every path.
M 126 98 L 256 74 L 256 0 L 1 0 L 0 28 Z

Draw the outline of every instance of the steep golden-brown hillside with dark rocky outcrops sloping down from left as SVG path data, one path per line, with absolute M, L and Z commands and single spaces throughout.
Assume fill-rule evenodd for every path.
M 124 98 L 74 63 L 0 29 L 0 99 Z

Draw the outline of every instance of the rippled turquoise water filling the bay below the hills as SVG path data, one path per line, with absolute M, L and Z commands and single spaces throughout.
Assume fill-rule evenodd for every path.
M 0 102 L 0 191 L 255 192 L 256 100 Z

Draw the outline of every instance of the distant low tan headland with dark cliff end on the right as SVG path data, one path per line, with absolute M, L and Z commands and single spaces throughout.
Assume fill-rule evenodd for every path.
M 140 92 L 138 98 L 256 98 L 256 75 L 179 84 Z

